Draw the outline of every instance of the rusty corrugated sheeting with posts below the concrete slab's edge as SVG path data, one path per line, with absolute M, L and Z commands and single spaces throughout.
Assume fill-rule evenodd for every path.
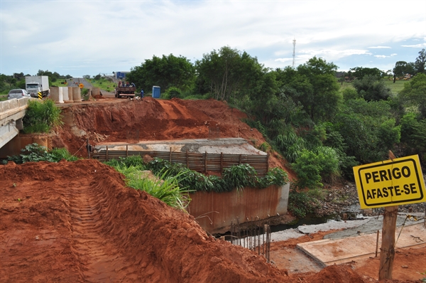
M 250 164 L 256 169 L 258 176 L 265 176 L 268 173 L 268 155 L 247 155 L 247 154 L 195 154 L 188 152 L 173 151 L 119 151 L 102 150 L 92 154 L 94 159 L 107 161 L 109 159 L 119 159 L 120 157 L 149 155 L 159 159 L 168 160 L 172 163 L 185 164 L 187 168 L 198 172 L 222 172 L 225 168 L 230 168 L 239 164 Z

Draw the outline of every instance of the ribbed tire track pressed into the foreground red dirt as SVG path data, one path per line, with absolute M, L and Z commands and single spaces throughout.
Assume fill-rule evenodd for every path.
M 131 274 L 126 272 L 129 262 L 107 235 L 112 225 L 104 191 L 99 191 L 94 182 L 75 182 L 65 196 L 70 204 L 72 247 L 79 257 L 84 280 L 120 282 L 130 279 Z

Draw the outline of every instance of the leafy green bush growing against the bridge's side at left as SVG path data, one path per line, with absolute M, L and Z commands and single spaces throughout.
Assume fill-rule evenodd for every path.
M 25 116 L 22 118 L 23 132 L 47 133 L 54 126 L 62 124 L 60 109 L 55 106 L 53 100 L 30 100 Z

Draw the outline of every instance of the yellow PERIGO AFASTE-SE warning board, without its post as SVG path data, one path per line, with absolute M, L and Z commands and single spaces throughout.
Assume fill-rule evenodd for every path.
M 361 208 L 426 201 L 419 156 L 406 156 L 355 166 L 354 176 Z

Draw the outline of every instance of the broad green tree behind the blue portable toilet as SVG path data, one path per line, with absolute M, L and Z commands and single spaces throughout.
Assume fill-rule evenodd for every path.
M 136 86 L 149 89 L 158 85 L 165 91 L 169 87 L 178 87 L 182 91 L 192 89 L 195 80 L 194 65 L 183 56 L 173 54 L 163 55 L 162 58 L 153 56 L 145 60 L 140 66 L 131 68 L 126 80 L 134 82 Z

